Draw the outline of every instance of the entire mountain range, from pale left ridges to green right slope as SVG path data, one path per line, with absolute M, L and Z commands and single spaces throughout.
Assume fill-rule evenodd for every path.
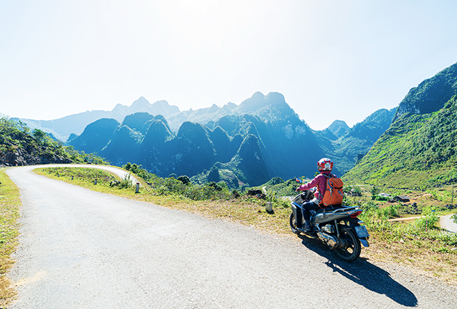
M 116 165 L 135 162 L 162 177 L 223 180 L 234 188 L 272 177 L 311 178 L 324 156 L 349 184 L 457 182 L 457 64 L 412 88 L 398 108 L 378 110 L 354 127 L 337 120 L 314 131 L 277 92 L 184 112 L 140 97 L 110 112 L 21 121 Z

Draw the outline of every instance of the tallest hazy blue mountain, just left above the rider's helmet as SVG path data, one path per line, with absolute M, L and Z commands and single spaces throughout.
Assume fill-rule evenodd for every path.
M 325 153 L 317 136 L 288 106 L 283 95 L 270 92 L 264 96 L 256 92 L 250 99 L 243 101 L 237 110 L 251 114 L 225 116 L 216 121 L 215 125 L 230 136 L 256 136 L 270 178 L 314 175 L 316 162 Z

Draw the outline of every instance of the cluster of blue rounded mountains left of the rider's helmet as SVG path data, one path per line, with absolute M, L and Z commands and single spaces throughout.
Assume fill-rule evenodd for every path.
M 221 113 L 223 108 L 213 108 L 212 120 L 206 125 L 186 121 L 177 134 L 171 132 L 161 115 L 137 112 L 126 116 L 122 123 L 100 119 L 88 125 L 70 145 L 84 151 L 90 147 L 117 165 L 142 164 L 162 177 L 171 173 L 192 177 L 217 166 L 230 171 L 232 183 L 235 175 L 236 184 L 255 186 L 276 175 L 314 174 L 315 162 L 324 153 L 312 130 L 288 106 L 284 96 L 256 92 L 231 108 L 236 114 L 214 119 L 214 113 Z M 238 115 L 242 111 L 252 114 Z M 95 132 L 104 132 L 104 136 Z M 304 160 L 306 163 L 297 169 L 297 162 Z

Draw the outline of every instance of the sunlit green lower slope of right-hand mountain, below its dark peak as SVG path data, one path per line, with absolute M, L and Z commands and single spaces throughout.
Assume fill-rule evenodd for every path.
M 457 95 L 437 112 L 402 114 L 345 181 L 401 188 L 457 182 L 456 123 Z

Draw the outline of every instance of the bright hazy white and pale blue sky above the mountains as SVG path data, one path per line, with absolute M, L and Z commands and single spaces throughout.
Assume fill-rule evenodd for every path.
M 394 108 L 457 62 L 457 1 L 0 1 L 0 112 L 281 92 L 312 129 Z

